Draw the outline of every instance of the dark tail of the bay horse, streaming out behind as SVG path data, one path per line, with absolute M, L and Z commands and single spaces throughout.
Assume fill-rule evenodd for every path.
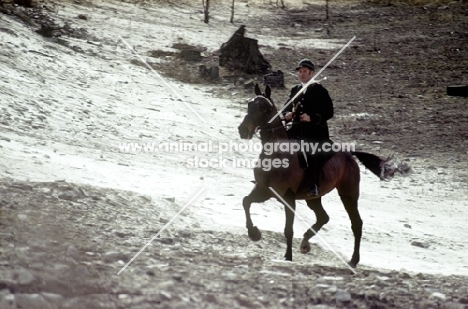
M 411 171 L 411 167 L 404 162 L 392 162 L 393 156 L 382 159 L 367 152 L 352 151 L 351 154 L 356 156 L 380 180 L 390 180 L 395 173 L 407 174 Z

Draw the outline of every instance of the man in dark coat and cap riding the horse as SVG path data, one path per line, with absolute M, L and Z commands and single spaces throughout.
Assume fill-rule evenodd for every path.
M 296 67 L 296 71 L 301 83 L 291 89 L 286 104 L 312 79 L 315 66 L 309 59 L 303 59 Z M 327 125 L 327 120 L 333 117 L 332 99 L 325 87 L 314 82 L 283 110 L 283 114 L 287 122 L 293 122 L 288 130 L 291 138 L 319 145 L 318 153 L 312 153 L 311 147 L 303 149 L 307 154 L 307 185 L 311 185 L 307 195 L 318 196 L 320 173 L 327 158 L 330 157 L 320 152 L 324 143 L 328 142 L 330 145 L 332 143 Z

